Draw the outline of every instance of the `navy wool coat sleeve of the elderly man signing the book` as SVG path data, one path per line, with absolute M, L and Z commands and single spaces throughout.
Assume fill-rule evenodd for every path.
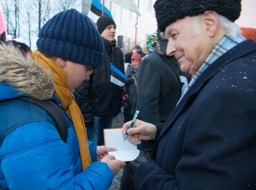
M 246 88 L 218 87 L 199 96 L 192 105 L 175 173 L 161 168 L 174 164 L 172 158 L 166 158 L 169 163 L 142 163 L 135 189 L 255 189 L 256 96 Z M 178 135 L 178 130 L 171 132 Z

